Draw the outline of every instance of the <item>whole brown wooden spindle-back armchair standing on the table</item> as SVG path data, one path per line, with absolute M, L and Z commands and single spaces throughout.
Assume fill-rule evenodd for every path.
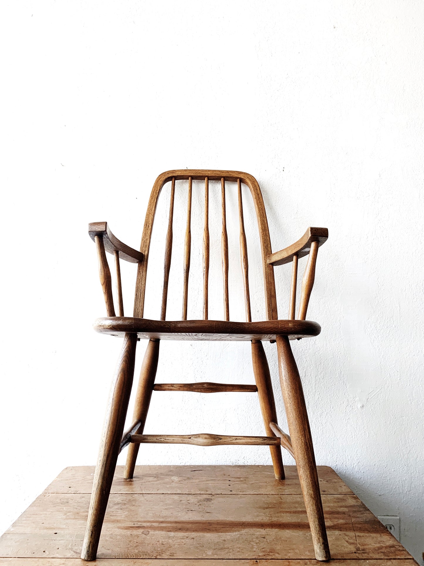
M 192 182 L 201 179 L 205 182 L 205 223 L 203 236 L 203 319 L 187 320 L 188 278 L 191 256 L 191 209 Z M 165 320 L 168 279 L 171 266 L 172 224 L 174 216 L 175 181 L 188 181 L 187 229 L 184 245 L 184 282 L 183 282 L 183 315 L 182 320 Z M 209 320 L 208 288 L 209 288 L 209 181 L 221 184 L 222 203 L 222 272 L 225 320 Z M 153 221 L 162 187 L 171 183 L 169 219 L 165 245 L 165 265 L 163 276 L 163 293 L 161 319 L 143 318 L 146 274 L 149 259 L 150 239 Z M 239 200 L 240 251 L 244 278 L 244 299 L 246 322 L 230 321 L 228 301 L 228 237 L 226 225 L 226 182 L 237 183 Z M 243 202 L 241 184 L 246 185 L 252 194 L 258 221 L 259 239 L 262 250 L 262 267 L 265 288 L 266 320 L 252 321 L 249 294 L 249 266 L 246 235 L 243 218 Z M 120 242 L 110 231 L 106 222 L 89 224 L 90 237 L 96 242 L 99 276 L 106 302 L 107 317 L 97 319 L 94 328 L 102 334 L 122 336 L 124 338 L 122 352 L 116 367 L 113 385 L 110 392 L 103 435 L 99 448 L 96 471 L 94 473 L 93 491 L 90 500 L 88 521 L 81 558 L 96 559 L 98 542 L 101 534 L 107 500 L 114 476 L 118 454 L 128 448 L 124 477 L 133 477 L 137 452 L 141 443 L 196 444 L 214 446 L 219 444 L 252 444 L 269 445 L 276 479 L 284 479 L 284 467 L 281 447 L 285 448 L 296 460 L 298 476 L 305 501 L 306 512 L 310 524 L 315 556 L 318 560 L 329 560 L 327 533 L 322 511 L 321 494 L 319 492 L 318 475 L 315 466 L 314 449 L 310 434 L 308 414 L 302 384 L 298 374 L 295 358 L 293 358 L 289 340 L 317 336 L 321 332 L 319 324 L 306 320 L 311 290 L 314 284 L 315 263 L 318 247 L 328 238 L 326 228 L 308 228 L 300 240 L 278 252 L 271 252 L 271 242 L 266 219 L 265 207 L 259 185 L 252 175 L 241 171 L 214 170 L 175 170 L 166 171 L 156 179 L 146 212 L 140 251 Z M 118 316 L 115 314 L 112 284 L 106 251 L 115 256 L 116 297 L 118 299 Z M 300 306 L 297 319 L 296 283 L 297 262 L 299 258 L 309 254 L 308 263 L 302 279 Z M 133 316 L 124 316 L 122 301 L 122 285 L 119 260 L 123 259 L 138 264 L 135 302 Z M 278 319 L 274 267 L 292 262 L 292 282 L 288 319 Z M 129 396 L 131 393 L 137 339 L 148 340 L 144 361 L 140 372 L 137 389 L 133 424 L 124 432 Z M 218 383 L 161 383 L 155 384 L 158 366 L 159 344 L 161 340 L 245 340 L 252 342 L 252 361 L 256 385 L 227 385 Z M 289 433 L 286 434 L 278 426 L 275 410 L 274 393 L 270 371 L 262 346 L 262 340 L 276 342 L 278 353 L 280 384 L 283 392 L 285 411 Z M 257 392 L 259 405 L 265 424 L 266 436 L 224 436 L 214 434 L 193 435 L 145 435 L 143 433 L 150 398 L 153 391 L 196 391 L 213 393 L 222 391 Z

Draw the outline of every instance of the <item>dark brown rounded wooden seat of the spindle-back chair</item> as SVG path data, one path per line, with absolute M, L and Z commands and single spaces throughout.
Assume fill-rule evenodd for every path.
M 109 316 L 94 322 L 101 334 L 122 336 L 137 333 L 142 339 L 250 341 L 289 340 L 318 336 L 321 326 L 312 320 L 262 320 L 259 322 L 231 322 L 227 320 L 150 320 L 129 316 Z

